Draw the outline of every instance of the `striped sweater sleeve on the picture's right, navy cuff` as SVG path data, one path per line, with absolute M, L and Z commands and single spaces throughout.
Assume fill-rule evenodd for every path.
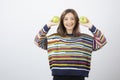
M 93 39 L 94 39 L 93 40 L 93 51 L 96 51 L 96 50 L 102 48 L 107 43 L 105 36 L 94 25 L 89 30 L 94 35 L 94 37 L 93 37 Z

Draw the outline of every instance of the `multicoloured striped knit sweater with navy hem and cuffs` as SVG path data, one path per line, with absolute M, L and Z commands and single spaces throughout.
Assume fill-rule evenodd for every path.
M 95 26 L 89 29 L 93 37 L 82 34 L 79 37 L 59 34 L 46 36 L 47 25 L 35 37 L 35 43 L 48 51 L 49 65 L 52 75 L 69 75 L 88 77 L 91 55 L 106 44 L 104 35 Z

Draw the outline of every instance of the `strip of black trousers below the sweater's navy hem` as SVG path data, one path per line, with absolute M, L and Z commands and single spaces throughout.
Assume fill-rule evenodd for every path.
M 53 80 L 85 80 L 83 76 L 53 76 Z

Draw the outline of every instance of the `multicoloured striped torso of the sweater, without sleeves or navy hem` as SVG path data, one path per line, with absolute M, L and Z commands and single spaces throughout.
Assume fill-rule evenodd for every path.
M 48 36 L 49 65 L 53 69 L 90 70 L 93 37 Z

